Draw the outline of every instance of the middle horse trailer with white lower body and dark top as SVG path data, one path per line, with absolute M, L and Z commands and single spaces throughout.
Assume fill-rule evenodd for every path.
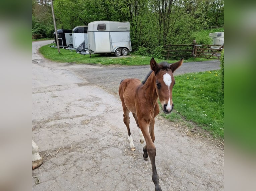
M 72 30 L 74 47 L 77 48 L 83 41 L 85 41 L 85 48 L 88 49 L 88 37 L 87 37 L 88 26 L 77 26 Z

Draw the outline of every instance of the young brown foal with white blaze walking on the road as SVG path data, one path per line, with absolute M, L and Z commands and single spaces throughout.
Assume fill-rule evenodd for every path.
M 132 151 L 135 150 L 130 132 L 129 113 L 132 112 L 139 128 L 140 142 L 143 143 L 144 138 L 146 141 L 146 145 L 143 147 L 143 158 L 144 160 L 147 160 L 148 156 L 150 158 L 155 191 L 162 190 L 155 166 L 154 125 L 155 116 L 159 113 L 157 98 L 161 102 L 163 112 L 170 113 L 173 108 L 172 88 L 175 84 L 172 73 L 181 66 L 182 62 L 183 59 L 171 65 L 166 62 L 159 65 L 152 58 L 150 60 L 152 71 L 144 82 L 141 83 L 139 79 L 125 79 L 121 81 L 119 86 L 119 96 L 122 101 L 124 123 L 128 130 L 130 148 Z

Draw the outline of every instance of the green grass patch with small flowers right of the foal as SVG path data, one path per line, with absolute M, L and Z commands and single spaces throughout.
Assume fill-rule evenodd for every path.
M 172 90 L 174 109 L 163 114 L 171 121 L 185 118 L 224 139 L 224 96 L 220 70 L 175 76 Z

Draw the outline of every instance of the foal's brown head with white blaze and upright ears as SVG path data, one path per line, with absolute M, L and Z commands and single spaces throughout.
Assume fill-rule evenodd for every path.
M 154 58 L 150 60 L 150 68 L 155 73 L 156 93 L 161 102 L 164 113 L 170 113 L 173 108 L 172 88 L 175 84 L 175 80 L 172 73 L 180 67 L 182 63 L 183 58 L 171 65 L 166 62 L 157 64 Z

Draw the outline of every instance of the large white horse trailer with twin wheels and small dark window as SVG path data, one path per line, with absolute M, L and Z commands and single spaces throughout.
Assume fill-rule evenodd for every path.
M 132 51 L 130 23 L 94 21 L 88 24 L 89 49 L 95 54 L 115 53 L 126 56 Z

